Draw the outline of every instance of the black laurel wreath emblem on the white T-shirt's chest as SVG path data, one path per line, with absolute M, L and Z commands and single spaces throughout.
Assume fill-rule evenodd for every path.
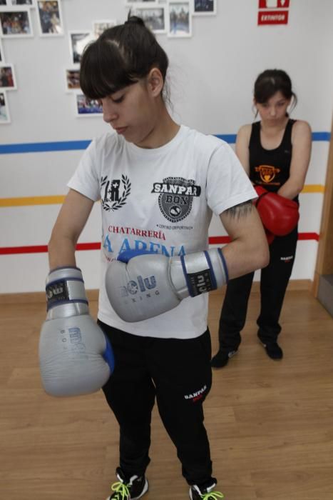
M 101 200 L 103 209 L 115 211 L 121 209 L 126 204 L 130 195 L 130 179 L 122 175 L 121 179 L 110 181 L 108 176 L 101 178 Z

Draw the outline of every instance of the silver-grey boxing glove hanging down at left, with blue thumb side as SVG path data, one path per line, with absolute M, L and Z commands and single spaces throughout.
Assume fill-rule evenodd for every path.
M 43 387 L 51 396 L 98 391 L 113 367 L 113 351 L 89 314 L 81 270 L 53 269 L 46 279 L 47 316 L 39 339 Z

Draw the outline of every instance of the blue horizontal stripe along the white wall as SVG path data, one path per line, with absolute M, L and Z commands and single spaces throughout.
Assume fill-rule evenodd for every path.
M 215 134 L 218 139 L 235 144 L 236 134 Z M 330 141 L 329 132 L 312 132 L 312 141 Z M 46 151 L 77 151 L 86 149 L 91 141 L 31 142 L 26 144 L 0 144 L 0 154 L 44 153 Z

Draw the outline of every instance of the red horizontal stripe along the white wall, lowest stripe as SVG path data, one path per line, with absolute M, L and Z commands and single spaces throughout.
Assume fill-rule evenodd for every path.
M 317 233 L 299 233 L 299 240 L 315 240 L 319 241 L 319 234 Z M 211 245 L 222 245 L 228 243 L 229 236 L 210 236 L 209 242 Z M 78 243 L 76 250 L 99 250 L 101 243 Z M 47 252 L 47 245 L 31 245 L 31 246 L 3 246 L 0 248 L 0 255 L 13 255 L 13 254 L 45 254 Z

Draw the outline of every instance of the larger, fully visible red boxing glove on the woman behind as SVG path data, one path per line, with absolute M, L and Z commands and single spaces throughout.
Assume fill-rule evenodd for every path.
M 297 226 L 299 219 L 296 201 L 266 191 L 262 186 L 255 186 L 255 191 L 259 196 L 255 206 L 265 229 L 275 236 L 289 234 Z

